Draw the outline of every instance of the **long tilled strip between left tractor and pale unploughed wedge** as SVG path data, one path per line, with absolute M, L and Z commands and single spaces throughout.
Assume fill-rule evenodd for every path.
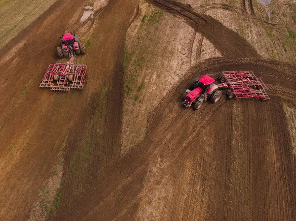
M 91 95 L 89 105 L 82 111 L 85 117 L 78 119 L 70 130 L 64 167 L 66 179 L 61 189 L 64 200 L 61 200 L 59 211 L 52 220 L 71 211 L 76 198 L 92 191 L 91 184 L 97 183 L 99 177 L 120 158 L 125 33 L 137 5 L 137 0 L 110 0 L 97 18 L 91 36 L 95 43 L 89 52 L 92 75 L 91 70 L 88 74 L 93 81 L 89 87 L 95 89 L 101 83 L 103 89 Z M 85 136 L 88 143 L 81 142 Z M 85 146 L 91 148 L 89 157 L 77 158 L 77 153 L 78 156 L 83 153 Z

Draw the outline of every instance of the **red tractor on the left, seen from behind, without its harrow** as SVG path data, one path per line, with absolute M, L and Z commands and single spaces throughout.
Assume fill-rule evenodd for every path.
M 57 47 L 59 59 L 85 54 L 85 46 L 83 43 L 79 42 L 75 34 L 72 35 L 71 33 L 66 33 L 63 34 L 60 38 L 61 46 Z

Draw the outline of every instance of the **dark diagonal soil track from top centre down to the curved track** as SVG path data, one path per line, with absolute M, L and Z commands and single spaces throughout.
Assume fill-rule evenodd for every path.
M 236 32 L 227 29 L 211 16 L 200 15 L 190 7 L 172 0 L 148 0 L 169 13 L 187 21 L 196 32 L 206 37 L 225 58 L 260 57 L 256 50 Z M 213 31 L 215 30 L 215 31 Z

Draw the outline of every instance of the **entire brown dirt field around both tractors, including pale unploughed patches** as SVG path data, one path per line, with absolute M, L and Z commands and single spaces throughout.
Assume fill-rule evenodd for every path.
M 58 0 L 2 49 L 0 220 L 296 220 L 293 5 L 269 21 L 251 0 L 109 0 L 79 23 L 100 2 Z M 88 83 L 50 93 L 65 31 L 89 42 Z M 191 79 L 223 70 L 254 71 L 271 99 L 181 107 Z

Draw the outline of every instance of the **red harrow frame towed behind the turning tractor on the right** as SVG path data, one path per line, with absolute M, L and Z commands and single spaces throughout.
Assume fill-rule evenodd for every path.
M 267 87 L 261 78 L 257 78 L 253 71 L 223 71 L 219 88 L 229 88 L 237 98 L 255 97 L 261 100 L 269 99 L 265 90 Z M 228 90 L 229 90 L 228 89 Z

